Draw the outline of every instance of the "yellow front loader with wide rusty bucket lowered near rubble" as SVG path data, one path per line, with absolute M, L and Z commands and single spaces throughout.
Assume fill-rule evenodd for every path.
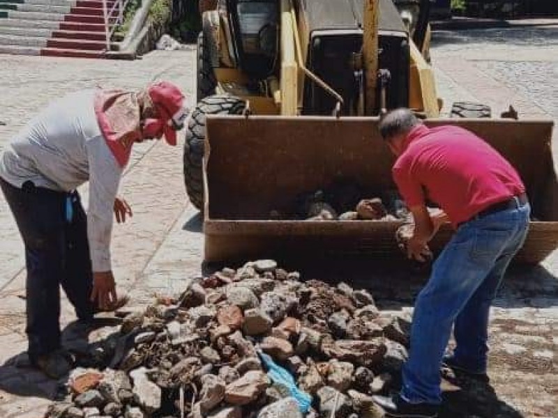
M 186 133 L 185 183 L 204 212 L 206 261 L 329 254 L 387 256 L 400 222 L 272 220 L 294 196 L 336 178 L 394 189 L 378 115 L 409 107 L 490 142 L 520 172 L 534 220 L 518 259 L 558 244 L 552 121 L 490 118 L 457 103 L 439 118 L 428 63 L 428 0 L 218 0 L 203 15 L 197 100 Z M 446 229 L 433 243 L 439 249 Z

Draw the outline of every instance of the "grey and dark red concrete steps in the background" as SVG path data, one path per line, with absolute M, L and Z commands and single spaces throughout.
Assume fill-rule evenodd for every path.
M 103 58 L 104 22 L 102 0 L 0 0 L 0 54 Z

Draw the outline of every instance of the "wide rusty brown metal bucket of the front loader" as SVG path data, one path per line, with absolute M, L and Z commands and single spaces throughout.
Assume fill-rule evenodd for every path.
M 537 219 L 518 261 L 538 263 L 558 245 L 558 183 L 551 121 L 437 119 L 472 130 L 518 170 Z M 206 261 L 300 256 L 373 256 L 400 260 L 394 240 L 400 222 L 270 220 L 294 196 L 334 178 L 353 178 L 373 194 L 395 189 L 393 156 L 377 118 L 208 116 L 204 157 Z M 449 226 L 432 242 L 439 251 Z

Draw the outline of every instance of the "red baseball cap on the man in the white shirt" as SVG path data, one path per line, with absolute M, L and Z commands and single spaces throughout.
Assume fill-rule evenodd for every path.
M 184 95 L 180 88 L 171 82 L 151 84 L 147 88 L 147 93 L 163 121 L 165 140 L 170 145 L 176 145 L 176 131 L 184 127 L 188 115 Z

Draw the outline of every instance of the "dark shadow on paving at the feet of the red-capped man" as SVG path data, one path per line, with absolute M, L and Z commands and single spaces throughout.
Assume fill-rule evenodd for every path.
M 89 343 L 89 334 L 119 323 L 121 320 L 117 318 L 97 318 L 87 325 L 75 321 L 64 328 L 62 345 L 75 357 L 76 366 L 88 366 L 98 347 L 98 343 Z M 15 396 L 59 400 L 66 395 L 67 382 L 68 376 L 54 380 L 33 368 L 27 352 L 17 354 L 0 365 L 0 391 Z

